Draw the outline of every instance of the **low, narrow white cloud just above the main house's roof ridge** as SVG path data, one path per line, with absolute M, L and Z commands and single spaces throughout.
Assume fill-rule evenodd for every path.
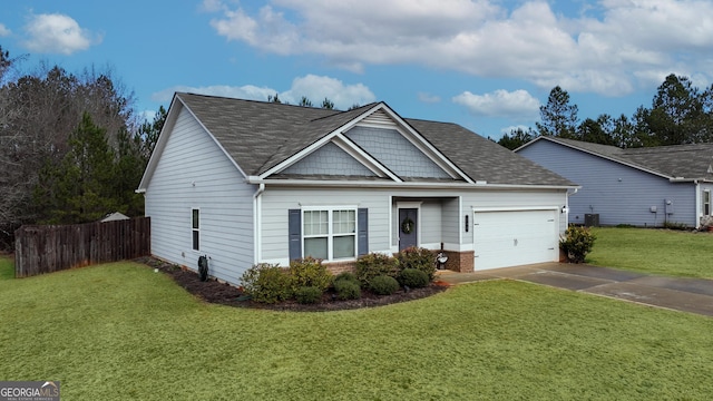
M 290 89 L 283 91 L 267 87 L 256 87 L 253 85 L 245 85 L 242 87 L 176 86 L 153 94 L 152 99 L 154 101 L 168 102 L 176 91 L 262 101 L 267 100 L 268 96 L 277 94 L 281 100 L 292 105 L 299 104 L 300 99 L 305 96 L 314 106 L 320 106 L 324 98 L 329 98 L 334 102 L 334 107 L 340 110 L 346 110 L 353 105 L 363 106 L 375 100 L 374 94 L 372 94 L 371 90 L 362 84 L 344 85 L 339 79 L 319 77 L 315 75 L 306 75 L 304 77 L 295 78 L 292 81 Z

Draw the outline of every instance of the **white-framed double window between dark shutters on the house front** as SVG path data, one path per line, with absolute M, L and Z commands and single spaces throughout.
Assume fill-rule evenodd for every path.
M 356 257 L 356 208 L 302 211 L 303 255 L 325 261 Z

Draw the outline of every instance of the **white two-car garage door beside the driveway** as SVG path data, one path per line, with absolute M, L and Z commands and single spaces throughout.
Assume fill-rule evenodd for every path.
M 475 212 L 475 270 L 556 262 L 557 211 Z

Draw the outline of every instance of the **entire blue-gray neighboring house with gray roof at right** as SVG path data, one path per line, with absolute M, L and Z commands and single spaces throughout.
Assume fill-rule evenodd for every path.
M 697 228 L 711 216 L 713 144 L 622 149 L 543 136 L 515 151 L 582 185 L 570 223 Z

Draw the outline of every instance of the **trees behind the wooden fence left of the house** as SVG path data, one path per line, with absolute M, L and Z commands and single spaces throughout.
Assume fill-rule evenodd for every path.
M 139 118 L 110 70 L 20 72 L 19 61 L 0 47 L 0 248 L 22 224 L 141 216 L 135 189 L 166 110 Z

